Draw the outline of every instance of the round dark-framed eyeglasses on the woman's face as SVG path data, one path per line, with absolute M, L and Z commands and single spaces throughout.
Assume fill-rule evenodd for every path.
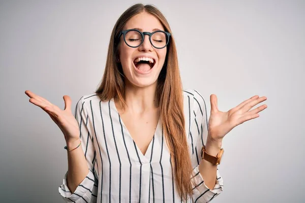
M 121 35 L 124 36 L 124 41 L 129 47 L 139 47 L 144 42 L 144 35 L 148 35 L 150 44 L 156 49 L 162 49 L 167 46 L 171 33 L 163 30 L 141 32 L 137 29 L 127 29 L 121 31 L 118 38 L 120 38 Z

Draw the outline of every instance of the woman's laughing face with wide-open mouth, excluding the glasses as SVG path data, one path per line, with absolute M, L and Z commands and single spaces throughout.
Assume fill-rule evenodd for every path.
M 124 26 L 123 30 L 126 29 L 138 29 L 142 32 L 164 30 L 161 22 L 146 12 L 133 16 Z M 144 35 L 143 43 L 137 48 L 129 47 L 122 35 L 119 43 L 119 60 L 128 80 L 126 82 L 137 87 L 155 85 L 165 61 L 166 51 L 166 47 L 163 49 L 153 47 L 148 35 Z

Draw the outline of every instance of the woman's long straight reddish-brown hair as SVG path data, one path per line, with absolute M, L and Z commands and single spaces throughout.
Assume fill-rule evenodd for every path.
M 121 64 L 117 61 L 120 43 L 118 36 L 127 21 L 142 12 L 155 16 L 160 20 L 165 31 L 171 33 L 164 15 L 152 5 L 135 4 L 118 18 L 111 33 L 104 76 L 96 93 L 103 101 L 111 98 L 118 99 L 123 109 L 126 106 L 125 83 Z M 173 36 L 170 37 L 165 62 L 158 77 L 156 97 L 159 101 L 162 128 L 174 168 L 176 189 L 180 197 L 186 200 L 193 194 L 194 183 L 191 182 L 193 168 L 186 137 L 182 83 Z

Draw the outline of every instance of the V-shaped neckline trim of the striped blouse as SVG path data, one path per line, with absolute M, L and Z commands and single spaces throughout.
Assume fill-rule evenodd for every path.
M 121 118 L 120 114 L 118 113 L 118 110 L 117 110 L 117 108 L 116 108 L 116 106 L 115 106 L 114 98 L 111 98 L 111 99 L 110 99 L 110 103 L 111 103 L 113 109 L 115 110 L 115 112 L 117 113 L 117 115 L 119 116 L 119 120 L 120 120 L 120 122 L 121 122 L 121 125 L 123 126 L 123 128 L 125 128 L 125 130 L 126 130 L 128 136 L 130 137 L 131 141 L 133 142 L 132 144 L 135 146 L 135 148 L 136 148 L 136 150 L 137 150 L 138 156 L 142 157 L 142 158 L 140 158 L 141 160 L 144 159 L 145 162 L 147 162 L 147 161 L 149 162 L 149 161 L 150 161 L 150 157 L 147 157 L 147 156 L 148 156 L 148 154 L 149 154 L 149 155 L 151 154 L 150 152 L 151 152 L 151 148 L 153 147 L 153 146 L 152 146 L 152 145 L 153 145 L 153 142 L 154 142 L 154 140 L 156 139 L 156 134 L 159 133 L 159 127 L 160 127 L 160 124 L 161 124 L 161 119 L 160 119 L 160 117 L 159 117 L 159 119 L 158 119 L 158 123 L 157 123 L 157 126 L 156 126 L 156 130 L 155 130 L 155 132 L 154 132 L 154 136 L 153 136 L 153 138 L 151 138 L 151 140 L 150 140 L 150 142 L 149 142 L 149 145 L 148 145 L 148 147 L 147 147 L 147 149 L 146 149 L 145 154 L 143 154 L 142 151 L 140 150 L 140 148 L 138 147 L 138 145 L 136 144 L 136 142 L 134 141 L 134 139 L 132 138 L 131 133 L 130 133 L 130 131 L 128 130 L 128 128 L 126 127 L 126 125 L 125 125 L 123 119 Z

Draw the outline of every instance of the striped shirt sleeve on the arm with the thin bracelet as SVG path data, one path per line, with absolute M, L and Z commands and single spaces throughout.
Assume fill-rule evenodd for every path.
M 98 193 L 98 174 L 95 171 L 96 151 L 94 148 L 92 133 L 87 126 L 88 114 L 85 109 L 85 100 L 81 97 L 76 104 L 75 118 L 80 128 L 81 147 L 87 160 L 89 172 L 84 180 L 77 186 L 74 193 L 68 188 L 66 172 L 62 185 L 58 187 L 59 194 L 66 202 L 96 202 Z

